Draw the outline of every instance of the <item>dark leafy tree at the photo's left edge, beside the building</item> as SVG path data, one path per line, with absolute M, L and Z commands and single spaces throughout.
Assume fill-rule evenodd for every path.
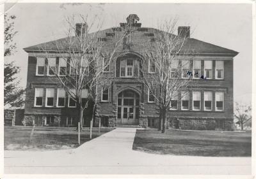
M 15 52 L 16 43 L 13 37 L 17 34 L 14 31 L 14 15 L 4 15 L 4 57 Z M 19 80 L 15 77 L 19 73 L 19 67 L 14 62 L 4 64 L 4 107 L 20 107 L 24 104 L 24 90 L 19 87 Z

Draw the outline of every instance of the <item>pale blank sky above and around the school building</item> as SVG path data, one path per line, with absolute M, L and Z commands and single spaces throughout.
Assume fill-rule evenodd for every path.
M 22 48 L 65 37 L 66 17 L 83 14 L 92 20 L 97 15 L 106 29 L 135 13 L 141 27 L 157 27 L 163 20 L 178 18 L 178 26 L 191 26 L 191 38 L 239 52 L 234 57 L 234 101 L 252 102 L 252 4 L 15 3 L 5 4 L 5 11 L 17 17 L 18 32 L 14 38 L 17 52 L 4 62 L 15 61 L 20 67 L 22 87 L 26 87 L 28 68 L 28 54 Z

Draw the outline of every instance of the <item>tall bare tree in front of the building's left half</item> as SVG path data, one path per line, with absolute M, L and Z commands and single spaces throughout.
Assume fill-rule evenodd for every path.
M 45 44 L 39 48 L 44 50 L 47 57 L 49 74 L 56 76 L 58 83 L 79 110 L 79 122 L 82 127 L 83 111 L 88 107 L 89 101 L 94 103 L 93 113 L 95 112 L 97 96 L 101 93 L 97 88 L 106 89 L 111 85 L 114 76 L 106 76 L 103 72 L 109 68 L 109 64 L 121 49 L 124 34 L 113 32 L 111 43 L 108 43 L 106 38 L 102 38 L 105 34 L 100 31 L 101 24 L 95 24 L 96 17 L 89 24 L 88 16 L 79 15 L 79 22 L 81 23 L 76 24 L 74 16 L 68 17 L 67 38 L 54 41 L 50 49 Z M 93 25 L 97 26 L 97 31 L 89 33 Z M 58 69 L 56 64 L 51 64 L 52 50 L 55 50 L 54 55 L 59 57 Z

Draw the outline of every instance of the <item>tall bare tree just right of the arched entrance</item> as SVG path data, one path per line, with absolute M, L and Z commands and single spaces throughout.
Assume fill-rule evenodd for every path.
M 166 131 L 166 113 L 171 103 L 178 103 L 180 90 L 188 90 L 193 85 L 190 61 L 195 55 L 184 48 L 188 36 L 186 32 L 175 35 L 177 19 L 165 21 L 154 32 L 154 40 L 147 43 L 149 50 L 144 52 L 149 61 L 148 73 L 143 73 L 141 81 L 147 86 L 150 97 L 159 106 L 159 130 Z M 145 66 L 145 64 L 144 64 Z M 147 68 L 147 67 L 146 67 Z M 200 74 L 196 74 L 200 75 Z M 181 98 L 188 92 L 182 92 Z M 176 98 L 176 101 L 172 99 Z

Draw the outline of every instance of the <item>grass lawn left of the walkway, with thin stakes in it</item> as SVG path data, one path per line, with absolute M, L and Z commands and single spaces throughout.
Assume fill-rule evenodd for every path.
M 33 138 L 29 143 L 32 127 L 4 126 L 4 150 L 59 150 L 76 148 L 78 133 L 76 129 L 35 127 Z M 112 129 L 93 129 L 92 138 Z M 81 144 L 90 141 L 90 129 L 85 128 L 81 132 Z

